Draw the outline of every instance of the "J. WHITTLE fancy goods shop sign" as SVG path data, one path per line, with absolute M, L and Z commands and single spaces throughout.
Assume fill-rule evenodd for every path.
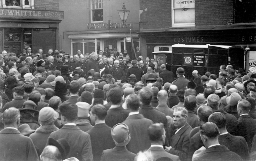
M 0 17 L 7 18 L 40 18 L 40 19 L 64 19 L 64 11 L 46 11 L 46 10 L 17 10 L 0 9 Z

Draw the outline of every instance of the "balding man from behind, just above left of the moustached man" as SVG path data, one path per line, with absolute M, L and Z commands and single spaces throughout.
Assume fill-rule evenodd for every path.
M 167 105 L 168 93 L 165 90 L 161 90 L 157 94 L 158 106 L 156 107 L 160 112 L 163 112 L 166 116 L 173 117 L 174 110 Z

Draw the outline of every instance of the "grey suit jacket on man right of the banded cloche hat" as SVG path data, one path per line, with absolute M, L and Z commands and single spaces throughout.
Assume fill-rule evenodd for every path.
M 154 124 L 152 120 L 142 114 L 135 114 L 128 116 L 123 123 L 129 127 L 129 132 L 132 134 L 131 141 L 126 145 L 130 152 L 137 154 L 150 147 L 147 129 Z

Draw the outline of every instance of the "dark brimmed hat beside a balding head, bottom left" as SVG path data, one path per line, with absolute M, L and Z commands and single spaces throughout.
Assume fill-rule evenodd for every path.
M 68 155 L 68 153 L 70 151 L 70 145 L 64 138 L 61 138 L 59 140 L 49 138 L 48 145 L 56 146 L 59 149 L 59 151 L 61 152 L 62 160 L 66 159 L 66 156 Z

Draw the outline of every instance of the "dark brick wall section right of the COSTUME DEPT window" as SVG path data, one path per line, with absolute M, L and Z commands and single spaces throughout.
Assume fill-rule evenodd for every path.
M 195 25 L 227 25 L 234 23 L 233 0 L 196 0 Z

